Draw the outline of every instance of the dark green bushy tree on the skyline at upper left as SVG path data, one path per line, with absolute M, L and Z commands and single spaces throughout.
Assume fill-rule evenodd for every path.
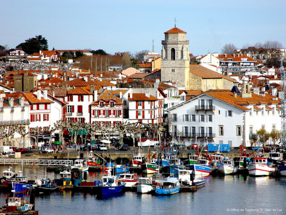
M 42 37 L 42 35 L 39 35 L 25 40 L 24 43 L 20 43 L 16 46 L 16 49 L 21 48 L 29 55 L 32 55 L 33 53 L 39 52 L 40 50 L 48 50 L 48 47 L 47 39 Z

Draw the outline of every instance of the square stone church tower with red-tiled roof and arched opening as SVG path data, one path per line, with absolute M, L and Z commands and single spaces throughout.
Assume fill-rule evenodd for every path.
M 189 89 L 189 40 L 186 32 L 175 28 L 167 31 L 162 40 L 161 81 L 176 83 L 177 87 Z

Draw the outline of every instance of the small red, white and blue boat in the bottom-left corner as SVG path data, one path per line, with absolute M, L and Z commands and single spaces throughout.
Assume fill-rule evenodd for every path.
M 3 210 L 9 211 L 11 212 L 11 214 L 12 214 L 12 211 L 17 211 L 19 212 L 19 214 L 22 214 L 21 212 L 23 211 L 31 211 L 33 206 L 34 204 L 30 204 L 27 201 L 21 200 L 21 197 L 8 197 L 7 204 L 4 204 Z

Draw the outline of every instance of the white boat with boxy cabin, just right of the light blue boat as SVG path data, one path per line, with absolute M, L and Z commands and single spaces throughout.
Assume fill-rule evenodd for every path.
M 194 178 L 192 170 L 179 170 L 179 181 L 182 186 L 196 186 L 197 188 L 205 186 L 204 178 Z

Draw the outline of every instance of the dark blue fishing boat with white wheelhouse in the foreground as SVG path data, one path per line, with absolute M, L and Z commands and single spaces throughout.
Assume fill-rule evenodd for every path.
M 99 195 L 110 195 L 124 191 L 125 182 L 117 180 L 117 176 L 111 175 L 111 170 L 107 171 L 108 174 L 102 176 L 102 184 L 98 185 Z

